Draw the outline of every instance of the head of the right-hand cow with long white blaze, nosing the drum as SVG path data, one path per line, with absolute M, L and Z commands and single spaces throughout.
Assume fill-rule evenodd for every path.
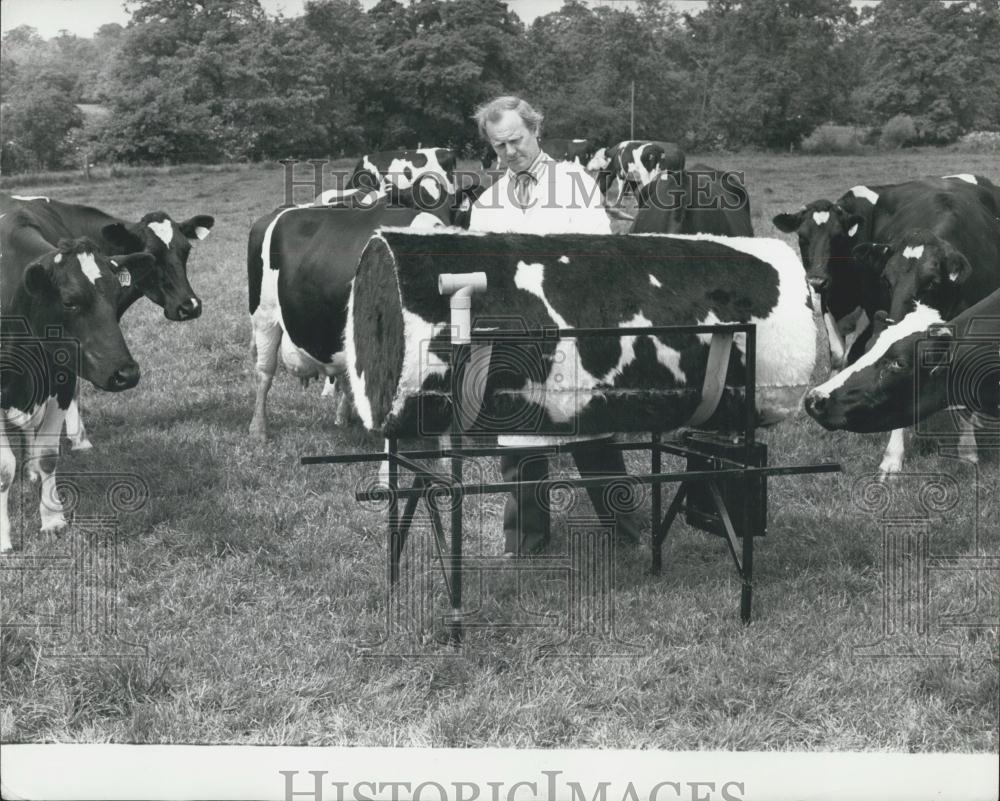
M 935 373 L 947 363 L 947 354 L 927 358 L 919 352 L 918 358 L 917 350 L 918 341 L 930 336 L 936 338 L 932 349 L 947 351 L 952 338 L 941 322 L 934 309 L 920 304 L 895 325 L 879 321 L 881 332 L 868 352 L 806 394 L 806 412 L 824 428 L 870 432 L 911 426 L 943 409 L 947 380 Z

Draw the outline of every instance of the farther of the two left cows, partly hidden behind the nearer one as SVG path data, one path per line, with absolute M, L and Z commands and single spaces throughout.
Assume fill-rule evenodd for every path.
M 90 206 L 2 193 L 0 214 L 15 215 L 11 219 L 18 225 L 37 230 L 50 243 L 86 237 L 105 256 L 150 254 L 153 268 L 145 271 L 145 280 L 133 281 L 118 295 L 119 319 L 144 295 L 163 308 L 168 320 L 193 320 L 201 315 L 201 301 L 188 282 L 187 262 L 191 243 L 208 236 L 214 217 L 197 214 L 178 223 L 165 212 L 154 211 L 130 223 Z M 9 236 L 14 229 L 5 230 Z M 0 260 L 6 258 L 4 252 L 6 248 L 0 251 Z M 76 401 L 67 410 L 66 428 L 75 450 L 91 447 Z

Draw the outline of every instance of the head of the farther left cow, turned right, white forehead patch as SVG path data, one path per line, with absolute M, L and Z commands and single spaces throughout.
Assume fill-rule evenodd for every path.
M 188 283 L 187 260 L 191 243 L 208 236 L 215 218 L 198 214 L 176 223 L 162 211 L 147 214 L 133 224 L 112 223 L 101 231 L 115 253 L 149 253 L 154 269 L 146 281 L 136 283 L 135 296 L 145 295 L 163 307 L 168 320 L 193 320 L 201 314 L 201 302 Z

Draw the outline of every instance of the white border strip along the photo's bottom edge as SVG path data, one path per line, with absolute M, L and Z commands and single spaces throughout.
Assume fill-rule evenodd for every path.
M 433 801 L 572 801 L 580 791 L 587 801 L 1000 797 L 995 754 L 5 745 L 0 759 L 4 799 L 49 801 L 402 801 L 428 782 L 444 788 L 421 789 L 419 797 Z M 319 795 L 309 771 L 326 772 Z

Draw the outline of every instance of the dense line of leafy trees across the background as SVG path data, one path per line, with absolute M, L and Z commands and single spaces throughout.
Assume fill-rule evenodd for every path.
M 681 13 L 565 0 L 525 25 L 501 0 L 127 0 L 91 38 L 2 41 L 4 172 L 85 153 L 219 162 L 478 147 L 470 115 L 522 94 L 551 136 L 689 150 L 797 147 L 831 122 L 940 144 L 1000 130 L 1000 0 L 709 0 Z M 79 105 L 104 113 L 86 115 Z

